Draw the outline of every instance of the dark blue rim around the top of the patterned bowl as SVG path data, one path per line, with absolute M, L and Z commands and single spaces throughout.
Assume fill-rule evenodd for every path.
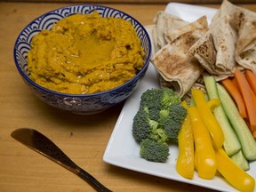
M 107 91 L 104 91 L 104 92 L 95 92 L 95 93 L 85 93 L 85 94 L 72 94 L 72 93 L 65 93 L 65 92 L 56 92 L 56 91 L 52 91 L 51 89 L 47 89 L 43 86 L 41 86 L 40 84 L 36 84 L 32 79 L 30 79 L 24 72 L 23 70 L 20 68 L 20 65 L 18 64 L 18 60 L 16 58 L 16 45 L 18 44 L 18 41 L 20 39 L 20 35 L 24 32 L 24 30 L 26 28 L 28 28 L 35 20 L 38 20 L 40 18 L 43 18 L 45 15 L 49 15 L 53 12 L 56 12 L 58 10 L 61 10 L 61 9 L 65 9 L 65 8 L 72 8 L 72 7 L 79 7 L 79 6 L 94 6 L 94 7 L 102 7 L 102 8 L 107 8 L 107 9 L 111 9 L 111 10 L 116 10 L 117 12 L 121 12 L 122 14 L 124 14 L 125 16 L 131 18 L 132 20 L 134 20 L 136 23 L 138 23 L 140 25 L 140 28 L 143 29 L 144 31 L 144 34 L 145 36 L 147 36 L 148 38 L 148 57 L 147 59 L 145 60 L 144 62 L 144 65 L 143 67 L 140 69 L 140 71 L 135 75 L 133 76 L 130 80 L 128 80 L 127 82 L 125 82 L 124 84 L 121 84 L 119 86 L 116 86 L 114 87 L 113 89 L 110 89 L 110 90 L 107 90 Z M 75 13 L 74 13 L 75 14 Z M 71 15 L 71 14 L 70 14 Z M 41 89 L 41 90 L 44 90 L 44 92 L 49 92 L 49 93 L 52 93 L 52 94 L 56 94 L 58 96 L 61 96 L 61 97 L 80 97 L 80 98 L 86 98 L 86 97 L 92 97 L 92 96 L 99 96 L 99 95 L 104 95 L 108 92 L 113 92 L 114 90 L 118 90 L 118 89 L 122 89 L 122 87 L 126 86 L 126 84 L 130 84 L 132 81 L 134 81 L 137 76 L 140 76 L 141 73 L 143 73 L 144 70 L 147 71 L 147 68 L 148 68 L 148 65 L 149 65 L 149 61 L 150 61 L 150 57 L 151 57 L 151 39 L 148 35 L 148 31 L 147 29 L 138 21 L 136 20 L 135 18 L 133 18 L 130 14 L 126 13 L 126 12 L 123 12 L 123 11 L 120 11 L 116 8 L 113 8 L 113 7 L 109 7 L 109 6 L 105 6 L 105 5 L 100 5 L 100 4 L 73 4 L 73 5 L 68 5 L 68 6 L 63 6 L 63 7 L 60 7 L 60 8 L 57 8 L 57 9 L 54 9 L 52 11 L 49 11 L 49 12 L 45 12 L 44 14 L 41 14 L 40 16 L 36 17 L 34 20 L 31 20 L 28 25 L 26 25 L 21 31 L 20 31 L 20 34 L 17 36 L 16 40 L 15 40 L 15 43 L 14 43 L 14 48 L 13 48 L 13 58 L 14 58 L 14 62 L 15 62 L 15 66 L 16 68 L 18 69 L 18 71 L 20 72 L 20 75 L 25 78 L 29 84 L 33 84 L 33 86 L 36 86 L 36 88 L 38 89 Z M 27 61 L 27 60 L 26 60 Z

